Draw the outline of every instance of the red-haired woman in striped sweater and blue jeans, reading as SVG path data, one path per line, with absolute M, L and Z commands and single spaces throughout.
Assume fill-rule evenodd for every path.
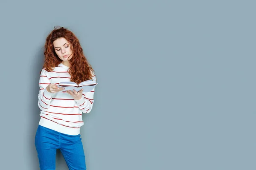
M 44 55 L 38 94 L 41 119 L 35 135 L 40 169 L 55 170 L 56 149 L 60 149 L 70 170 L 86 170 L 80 128 L 84 125 L 82 113 L 93 108 L 94 88 L 90 92 L 63 91 L 57 85 L 96 81 L 93 68 L 77 37 L 63 27 L 48 35 Z

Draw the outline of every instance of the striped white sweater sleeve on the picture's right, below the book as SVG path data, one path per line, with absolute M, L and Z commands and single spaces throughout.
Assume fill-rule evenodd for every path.
M 93 76 L 93 80 L 96 80 L 96 76 Z M 83 112 L 83 113 L 90 113 L 90 111 L 93 108 L 93 96 L 94 96 L 94 91 L 95 88 L 93 88 L 92 91 L 90 92 L 83 92 L 82 98 L 79 100 L 75 100 L 79 109 Z

